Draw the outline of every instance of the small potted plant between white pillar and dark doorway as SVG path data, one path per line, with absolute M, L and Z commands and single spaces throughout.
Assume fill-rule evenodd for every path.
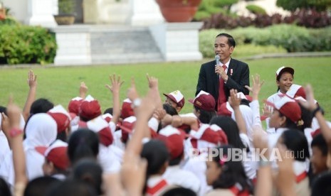
M 58 25 L 70 25 L 75 22 L 75 0 L 58 0 L 58 15 L 54 16 Z

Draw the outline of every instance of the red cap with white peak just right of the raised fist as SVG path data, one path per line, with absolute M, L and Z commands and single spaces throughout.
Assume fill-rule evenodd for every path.
M 100 114 L 101 109 L 98 100 L 88 95 L 88 97 L 86 97 L 80 104 L 79 116 L 90 120 L 95 119 L 97 116 L 100 116 Z

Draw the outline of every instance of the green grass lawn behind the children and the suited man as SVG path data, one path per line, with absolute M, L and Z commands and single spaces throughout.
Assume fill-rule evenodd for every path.
M 201 61 L 202 62 L 202 61 Z M 81 81 L 88 86 L 89 94 L 99 100 L 102 109 L 112 106 L 110 92 L 105 84 L 110 83 L 108 75 L 116 73 L 125 80 L 122 86 L 121 99 L 125 99 L 130 78 L 135 77 L 137 89 L 141 94 L 147 92 L 146 73 L 159 78 L 161 93 L 179 89 L 186 100 L 194 97 L 196 82 L 201 62 L 167 62 L 137 65 L 103 65 L 80 67 L 47 67 L 36 66 L 33 71 L 38 75 L 37 97 L 51 99 L 54 104 L 68 106 L 72 97 L 78 96 Z M 325 108 L 331 111 L 331 57 L 328 58 L 274 58 L 263 60 L 245 60 L 251 70 L 251 75 L 258 73 L 266 80 L 261 91 L 261 101 L 275 93 L 275 70 L 283 65 L 295 69 L 295 83 L 298 85 L 312 84 L 315 98 Z M 28 69 L 4 68 L 0 69 L 0 105 L 6 105 L 9 94 L 14 95 L 15 102 L 21 107 L 26 100 L 28 85 L 26 83 Z M 184 112 L 192 110 L 191 104 L 186 102 Z M 326 112 L 330 119 L 330 113 Z

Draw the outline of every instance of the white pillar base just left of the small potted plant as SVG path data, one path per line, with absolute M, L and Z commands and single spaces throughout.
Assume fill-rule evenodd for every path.
M 55 27 L 53 17 L 57 11 L 57 0 L 28 0 L 28 18 L 26 23 L 33 26 Z

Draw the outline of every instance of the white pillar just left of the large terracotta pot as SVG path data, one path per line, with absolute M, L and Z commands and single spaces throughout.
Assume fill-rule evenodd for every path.
M 149 26 L 164 22 L 159 6 L 155 0 L 131 0 L 132 26 Z

